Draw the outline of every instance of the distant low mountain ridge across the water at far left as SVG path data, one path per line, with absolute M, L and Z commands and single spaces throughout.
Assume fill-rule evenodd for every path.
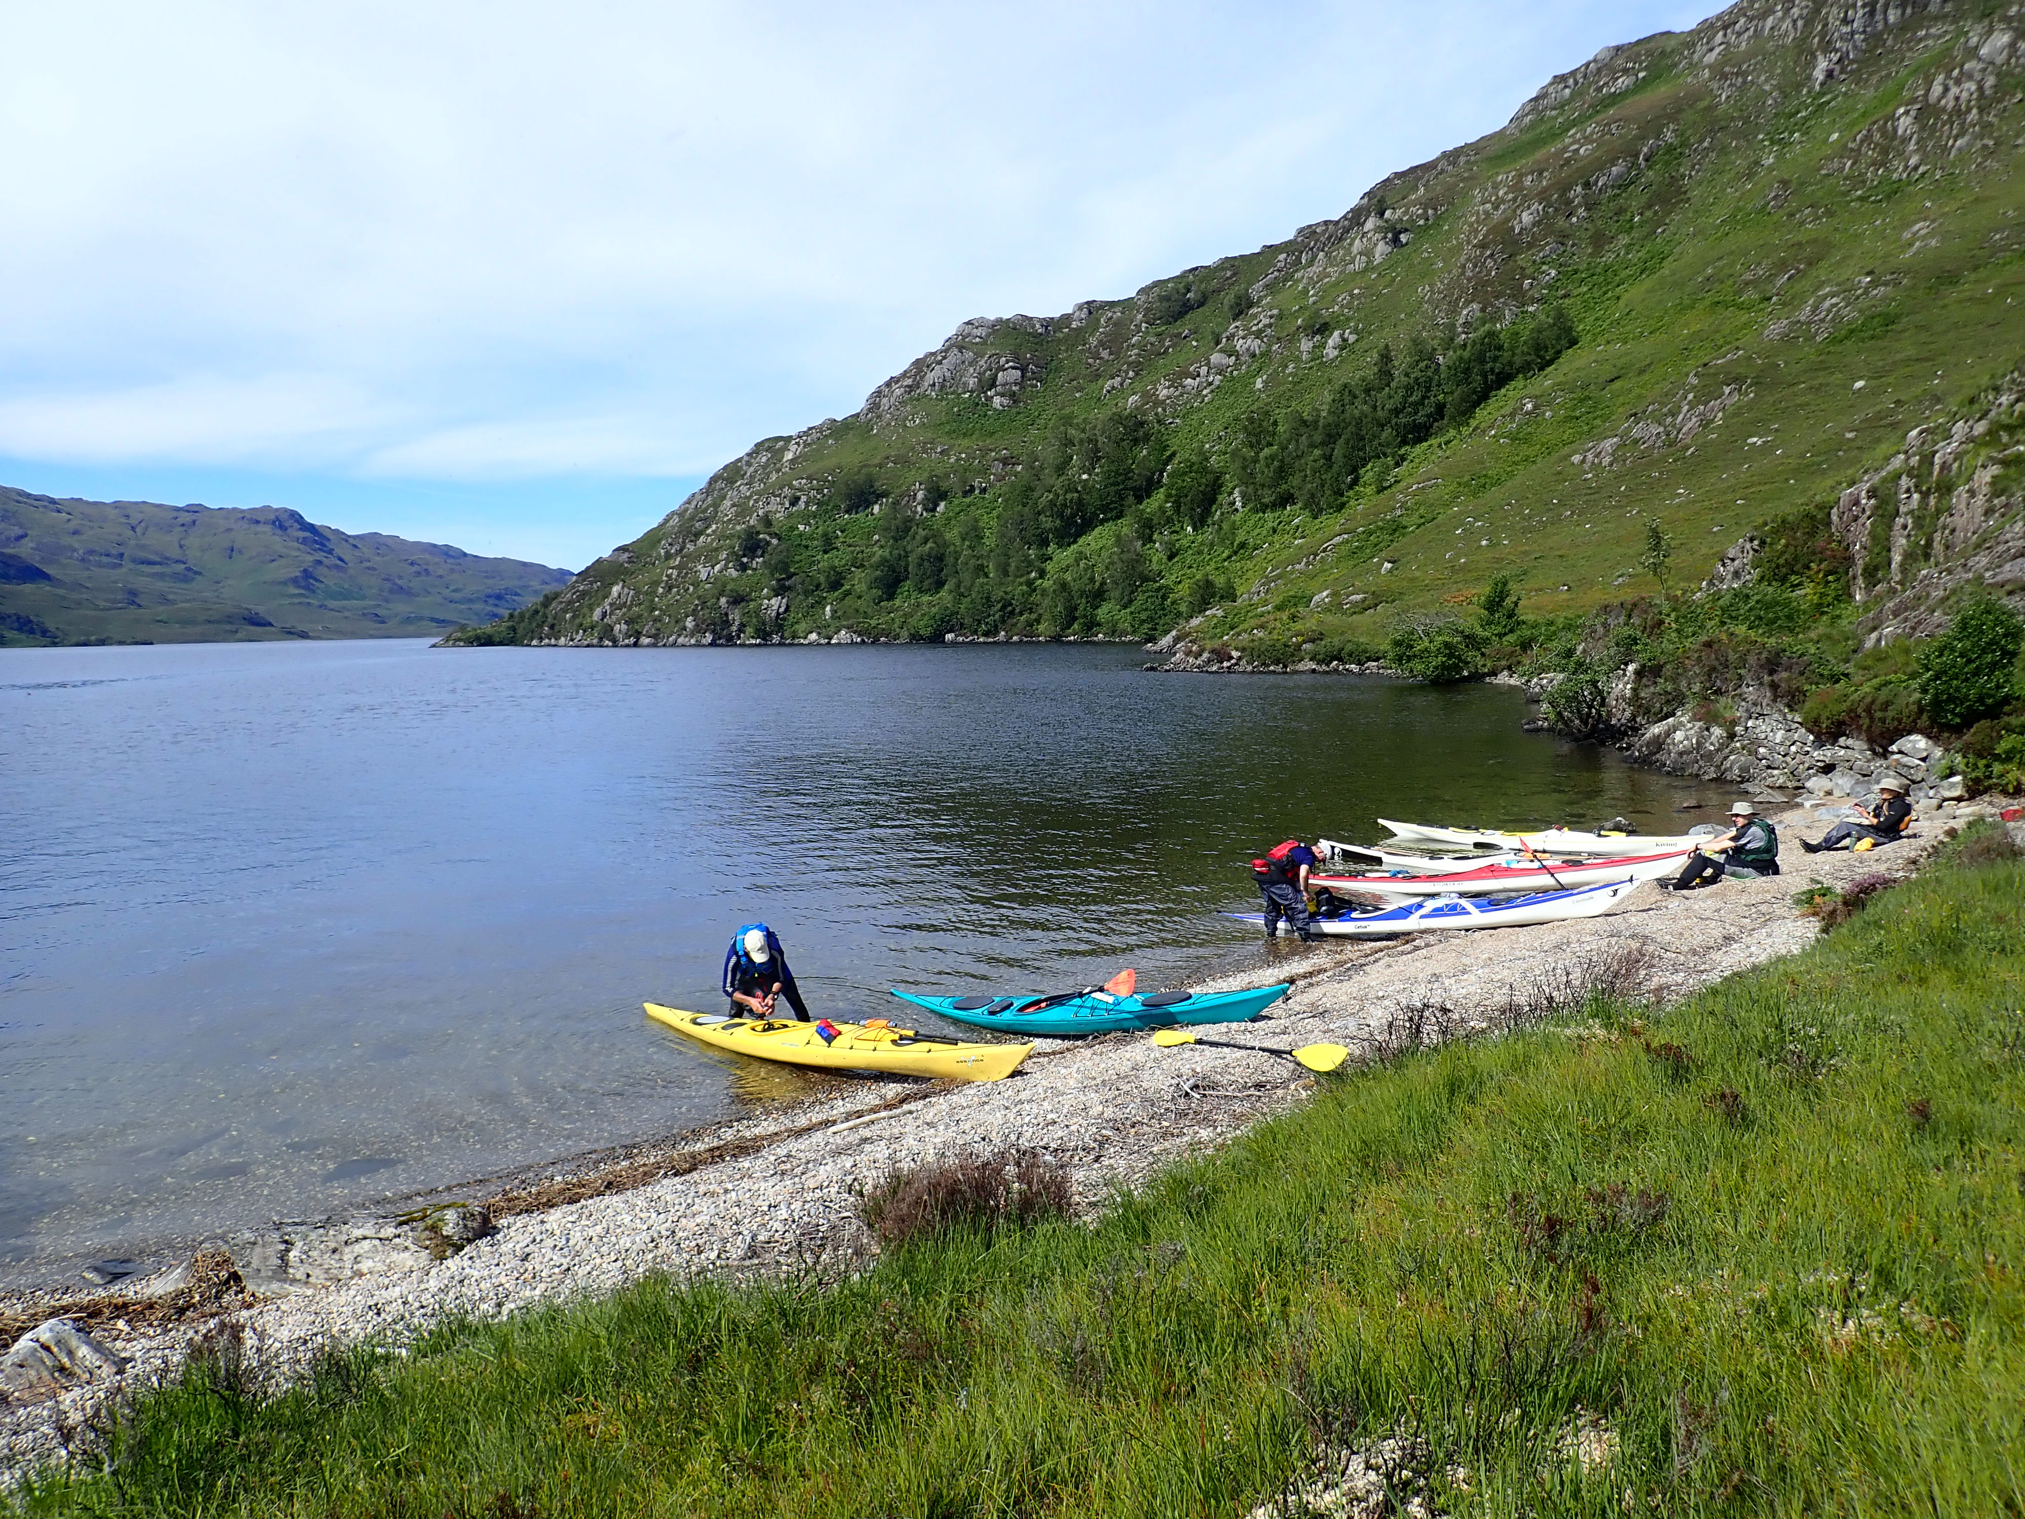
M 57 500 L 0 486 L 0 644 L 421 638 L 492 622 L 567 569 L 340 533 L 286 506 Z

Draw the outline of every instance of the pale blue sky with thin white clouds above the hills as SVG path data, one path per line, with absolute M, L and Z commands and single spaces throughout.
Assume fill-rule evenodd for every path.
M 0 484 L 579 569 L 1709 0 L 12 6 Z

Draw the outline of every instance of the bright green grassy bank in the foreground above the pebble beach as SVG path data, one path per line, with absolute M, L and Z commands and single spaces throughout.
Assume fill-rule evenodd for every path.
M 1679 1009 L 1450 1045 L 1094 1225 L 231 1349 L 30 1513 L 1245 1513 L 1405 1436 L 1452 1513 L 2025 1509 L 2025 865 Z M 1630 1499 L 1626 1499 L 1630 1495 Z

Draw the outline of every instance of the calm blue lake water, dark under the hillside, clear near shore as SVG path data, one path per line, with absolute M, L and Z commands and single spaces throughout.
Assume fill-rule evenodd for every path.
M 731 1063 L 640 1003 L 713 1005 L 751 917 L 836 1017 L 1160 984 L 1266 954 L 1215 909 L 1290 832 L 1699 796 L 1507 689 L 1140 658 L 0 650 L 0 1270 L 723 1116 Z

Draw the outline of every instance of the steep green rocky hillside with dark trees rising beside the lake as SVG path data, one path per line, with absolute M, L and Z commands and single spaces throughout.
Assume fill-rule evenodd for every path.
M 2019 583 L 2021 83 L 2025 6 L 1989 0 L 1604 49 L 1286 243 L 964 322 L 474 642 L 1353 658 L 1501 573 L 1533 614 L 1622 597 L 1652 527 L 1660 577 L 1748 575 L 1806 510 L 1924 626 Z

